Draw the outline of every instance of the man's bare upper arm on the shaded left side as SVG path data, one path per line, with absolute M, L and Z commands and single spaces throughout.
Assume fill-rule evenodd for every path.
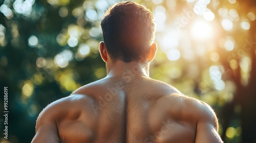
M 36 122 L 36 134 L 31 143 L 60 142 L 57 124 L 54 120 L 53 111 L 51 109 L 52 107 L 49 105 L 39 114 Z

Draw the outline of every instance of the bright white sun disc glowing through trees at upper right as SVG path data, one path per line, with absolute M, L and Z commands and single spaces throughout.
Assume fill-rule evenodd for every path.
M 208 40 L 213 36 L 212 26 L 205 21 L 196 21 L 191 26 L 191 36 L 196 40 Z

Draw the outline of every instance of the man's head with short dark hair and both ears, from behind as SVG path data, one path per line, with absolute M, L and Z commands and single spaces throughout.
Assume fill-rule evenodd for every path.
M 104 42 L 100 43 L 100 53 L 105 62 L 151 62 L 154 59 L 156 23 L 145 6 L 134 2 L 114 4 L 105 12 L 101 28 Z M 109 59 L 102 55 L 104 53 Z

